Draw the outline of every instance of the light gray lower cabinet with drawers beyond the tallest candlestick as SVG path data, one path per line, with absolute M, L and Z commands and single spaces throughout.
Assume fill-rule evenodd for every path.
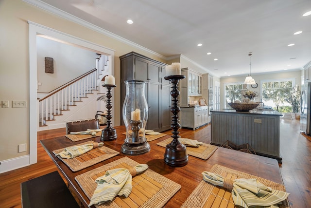
M 210 117 L 208 116 L 208 106 L 180 108 L 181 127 L 195 130 L 201 126 L 207 125 L 209 121 Z

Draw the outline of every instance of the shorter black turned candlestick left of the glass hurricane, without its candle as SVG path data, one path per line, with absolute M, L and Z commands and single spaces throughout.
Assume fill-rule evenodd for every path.
M 111 110 L 110 110 L 112 108 L 112 105 L 111 105 L 111 97 L 112 97 L 111 89 L 113 87 L 117 87 L 117 86 L 116 85 L 112 85 L 112 84 L 103 84 L 102 86 L 107 88 L 107 94 L 106 94 L 106 97 L 107 97 L 107 100 L 106 100 L 106 103 L 107 103 L 106 104 L 106 108 L 107 108 L 107 115 L 106 115 L 107 126 L 102 131 L 101 141 L 111 141 L 111 140 L 117 139 L 116 129 L 111 127 L 112 115 L 111 115 Z

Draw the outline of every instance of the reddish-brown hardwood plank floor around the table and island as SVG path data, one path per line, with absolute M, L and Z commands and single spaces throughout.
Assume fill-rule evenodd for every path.
M 170 130 L 164 133 L 171 132 Z M 0 174 L 0 208 L 21 208 L 20 183 L 57 170 L 39 141 L 65 133 L 65 128 L 38 132 L 37 163 Z M 210 126 L 196 131 L 181 129 L 179 135 L 193 139 L 207 135 L 209 139 L 205 143 L 209 143 Z M 279 168 L 286 190 L 290 193 L 291 207 L 311 207 L 311 140 L 300 134 L 299 121 L 281 119 L 280 152 L 283 163 Z

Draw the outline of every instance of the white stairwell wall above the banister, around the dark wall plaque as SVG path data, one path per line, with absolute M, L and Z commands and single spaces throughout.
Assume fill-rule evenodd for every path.
M 95 68 L 95 52 L 37 36 L 38 93 L 49 93 Z M 53 58 L 54 73 L 45 73 L 45 57 Z

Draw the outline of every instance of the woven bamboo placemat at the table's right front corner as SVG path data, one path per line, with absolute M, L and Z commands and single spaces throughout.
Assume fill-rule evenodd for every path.
M 250 175 L 241 171 L 226 168 L 220 165 L 214 165 L 209 172 L 217 173 L 225 178 L 257 178 L 262 184 L 272 189 L 286 191 L 281 184 L 263 179 L 254 175 Z M 202 176 L 203 177 L 203 176 Z M 184 202 L 181 208 L 211 208 L 225 207 L 234 208 L 231 191 L 223 187 L 217 187 L 202 180 L 200 184 L 192 191 L 190 196 Z M 288 200 L 283 201 L 279 208 L 289 208 Z

